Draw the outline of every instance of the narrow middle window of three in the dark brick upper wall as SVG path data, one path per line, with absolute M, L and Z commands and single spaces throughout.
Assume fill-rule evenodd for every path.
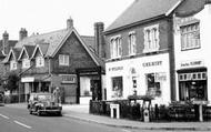
M 135 32 L 129 33 L 129 55 L 137 53 Z

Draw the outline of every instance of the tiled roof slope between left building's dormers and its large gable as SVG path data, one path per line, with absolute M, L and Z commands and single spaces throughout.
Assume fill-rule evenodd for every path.
M 71 30 L 71 29 L 70 29 Z M 14 48 L 22 48 L 23 45 L 36 45 L 40 43 L 49 43 L 46 55 L 52 55 L 57 48 L 64 40 L 66 35 L 70 32 L 68 29 L 58 30 L 49 33 L 31 35 L 19 41 Z

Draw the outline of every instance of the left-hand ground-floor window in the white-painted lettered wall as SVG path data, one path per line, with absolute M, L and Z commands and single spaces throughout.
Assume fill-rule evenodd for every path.
M 122 88 L 122 77 L 114 77 L 112 78 L 112 98 L 121 98 L 123 88 Z

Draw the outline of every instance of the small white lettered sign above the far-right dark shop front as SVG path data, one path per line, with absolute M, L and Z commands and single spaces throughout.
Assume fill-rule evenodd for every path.
M 180 63 L 181 68 L 194 68 L 194 67 L 203 67 L 203 61 L 194 60 L 194 61 L 184 61 Z

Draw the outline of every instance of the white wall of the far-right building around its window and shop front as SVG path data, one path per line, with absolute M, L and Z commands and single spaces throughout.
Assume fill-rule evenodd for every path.
M 200 41 L 201 45 L 199 49 L 192 50 L 181 50 L 181 34 L 180 28 L 177 23 L 177 19 L 174 18 L 174 54 L 175 54 L 175 71 L 181 69 L 194 69 L 194 68 L 207 68 L 207 79 L 208 79 L 208 100 L 211 101 L 211 61 L 210 61 L 210 31 L 211 31 L 211 6 L 207 4 L 203 10 L 195 13 L 193 18 L 200 20 Z M 191 64 L 191 62 L 200 62 L 199 64 Z M 187 63 L 188 65 L 182 65 Z M 178 73 L 175 73 L 177 78 L 177 100 L 179 100 L 179 79 Z

